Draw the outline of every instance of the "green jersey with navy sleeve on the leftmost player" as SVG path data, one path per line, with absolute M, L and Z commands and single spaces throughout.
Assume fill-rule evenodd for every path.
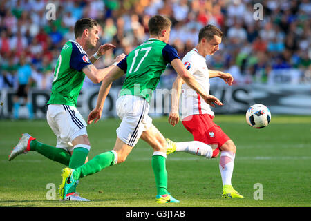
M 67 41 L 57 59 L 50 100 L 47 104 L 77 105 L 85 74 L 82 69 L 91 64 L 77 41 Z

